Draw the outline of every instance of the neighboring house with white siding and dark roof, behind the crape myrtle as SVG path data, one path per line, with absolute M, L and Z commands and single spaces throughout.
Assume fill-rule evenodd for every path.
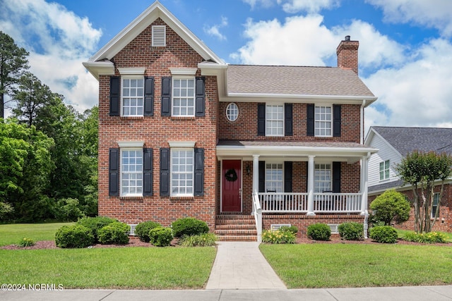
M 412 199 L 411 185 L 404 185 L 396 173 L 397 164 L 414 150 L 421 152 L 446 152 L 452 154 L 452 128 L 403 128 L 372 126 L 365 145 L 379 149 L 369 159 L 369 202 L 388 189 L 394 188 Z M 437 231 L 452 231 L 452 179 L 446 181 L 443 200 L 439 207 L 439 219 L 434 225 Z M 439 187 L 434 195 L 434 210 L 439 200 Z M 434 213 L 433 213 L 434 214 Z M 432 216 L 433 217 L 433 216 Z M 414 229 L 413 216 L 403 227 Z

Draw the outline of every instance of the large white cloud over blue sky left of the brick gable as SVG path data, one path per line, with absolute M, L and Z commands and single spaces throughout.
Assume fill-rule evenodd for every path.
M 0 25 L 30 52 L 30 71 L 78 111 L 97 104 L 97 82 L 82 66 L 102 35 L 88 18 L 44 0 L 4 0 Z

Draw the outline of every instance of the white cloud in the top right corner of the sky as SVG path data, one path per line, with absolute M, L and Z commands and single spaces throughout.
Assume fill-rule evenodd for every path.
M 436 28 L 446 37 L 452 36 L 450 0 L 367 0 L 367 2 L 382 8 L 385 20 L 389 22 L 414 22 Z

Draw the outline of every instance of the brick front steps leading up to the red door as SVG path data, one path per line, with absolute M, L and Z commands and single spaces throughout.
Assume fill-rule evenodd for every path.
M 220 214 L 215 219 L 215 234 L 221 241 L 257 241 L 254 216 Z

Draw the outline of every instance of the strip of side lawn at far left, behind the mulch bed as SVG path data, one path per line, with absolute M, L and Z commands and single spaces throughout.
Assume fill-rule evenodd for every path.
M 55 240 L 58 228 L 72 223 L 11 223 L 0 225 L 0 246 L 16 245 L 23 238 Z

